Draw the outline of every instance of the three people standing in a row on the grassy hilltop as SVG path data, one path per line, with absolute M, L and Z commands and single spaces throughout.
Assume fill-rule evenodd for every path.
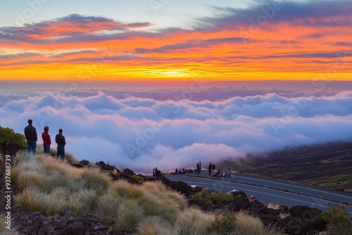
M 28 153 L 37 153 L 37 141 L 38 141 L 38 136 L 37 136 L 37 129 L 33 127 L 33 121 L 32 119 L 28 120 L 28 125 L 25 127 L 25 139 L 27 141 L 27 152 Z M 43 139 L 43 148 L 44 148 L 44 153 L 49 154 L 50 151 L 50 145 L 51 145 L 51 139 L 49 135 L 49 127 L 45 126 L 44 127 L 44 132 L 42 133 L 42 139 Z M 56 152 L 56 157 L 61 158 L 61 160 L 65 159 L 65 136 L 63 136 L 63 129 L 58 129 L 58 134 L 55 136 L 55 141 L 57 146 L 57 152 Z

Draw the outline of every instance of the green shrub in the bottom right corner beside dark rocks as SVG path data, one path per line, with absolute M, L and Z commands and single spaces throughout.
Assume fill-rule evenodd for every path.
M 328 211 L 322 212 L 322 218 L 329 224 L 329 234 L 352 234 L 352 217 L 346 206 L 338 208 L 333 206 Z

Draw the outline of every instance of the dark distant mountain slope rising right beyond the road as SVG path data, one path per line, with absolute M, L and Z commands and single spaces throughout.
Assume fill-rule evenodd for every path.
M 315 144 L 224 160 L 225 168 L 352 193 L 352 142 Z

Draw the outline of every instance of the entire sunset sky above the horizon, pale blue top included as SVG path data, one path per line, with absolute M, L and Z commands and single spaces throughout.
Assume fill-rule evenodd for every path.
M 351 80 L 352 1 L 1 1 L 0 80 Z

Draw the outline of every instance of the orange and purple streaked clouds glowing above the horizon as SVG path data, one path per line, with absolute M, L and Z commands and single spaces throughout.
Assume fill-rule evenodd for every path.
M 156 29 L 153 22 L 77 14 L 1 27 L 0 51 L 17 50 L 12 56 L 0 53 L 3 61 L 7 59 L 1 63 L 6 67 L 4 77 L 16 77 L 25 65 L 37 65 L 31 73 L 40 79 L 60 64 L 66 71 L 60 76 L 72 78 L 89 63 L 103 63 L 92 79 L 306 80 L 335 70 L 343 61 L 333 80 L 349 79 L 351 1 L 256 1 L 248 8 L 213 11 L 213 16 L 189 20 L 187 28 Z M 49 77 L 59 79 L 54 75 Z

